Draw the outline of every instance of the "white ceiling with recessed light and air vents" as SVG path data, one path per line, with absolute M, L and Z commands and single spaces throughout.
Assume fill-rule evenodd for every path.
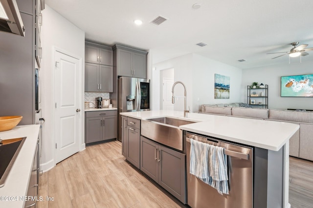
M 246 69 L 288 64 L 291 42 L 313 47 L 313 0 L 45 0 L 86 39 L 152 51 L 153 63 L 196 53 Z M 201 8 L 193 9 L 194 3 Z M 168 20 L 156 26 L 157 16 Z M 135 19 L 143 24 L 137 26 Z M 206 43 L 200 47 L 196 44 Z M 302 62 L 313 60 L 313 51 Z M 246 62 L 239 62 L 246 59 Z M 300 61 L 299 57 L 293 61 Z

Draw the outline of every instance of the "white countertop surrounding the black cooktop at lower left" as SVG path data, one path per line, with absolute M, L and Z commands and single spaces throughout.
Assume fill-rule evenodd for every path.
M 0 137 L 3 140 L 27 137 L 6 178 L 4 186 L 0 188 L 0 208 L 24 207 L 25 201 L 23 201 L 21 197 L 27 196 L 28 182 L 35 155 L 39 127 L 40 125 L 16 126 L 10 131 L 0 132 Z

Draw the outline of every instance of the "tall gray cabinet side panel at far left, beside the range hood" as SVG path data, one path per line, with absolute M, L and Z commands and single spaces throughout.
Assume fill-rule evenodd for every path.
M 22 115 L 19 125 L 28 125 L 35 122 L 35 17 L 22 11 L 28 11 L 29 6 L 33 14 L 35 1 L 19 0 L 17 3 L 25 37 L 0 32 L 0 116 Z

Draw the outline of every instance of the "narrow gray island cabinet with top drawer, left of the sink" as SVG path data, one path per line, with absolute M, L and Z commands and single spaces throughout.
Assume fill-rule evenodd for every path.
M 126 133 L 126 159 L 140 169 L 140 120 L 127 117 Z

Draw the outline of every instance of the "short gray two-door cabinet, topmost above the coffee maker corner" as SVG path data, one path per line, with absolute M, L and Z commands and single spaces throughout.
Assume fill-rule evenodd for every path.
M 112 49 L 106 46 L 86 43 L 85 62 L 113 66 Z

